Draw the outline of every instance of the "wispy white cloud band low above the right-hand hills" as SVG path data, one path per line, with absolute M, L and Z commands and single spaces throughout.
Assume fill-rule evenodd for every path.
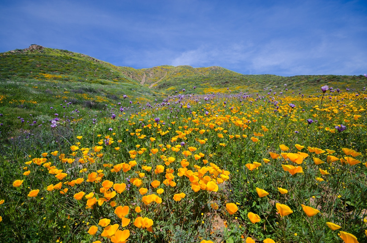
M 341 48 L 342 47 L 342 48 Z M 366 67 L 366 51 L 353 40 L 321 38 L 317 43 L 300 45 L 294 39 L 270 40 L 261 46 L 232 44 L 222 48 L 201 46 L 180 53 L 171 65 L 195 67 L 219 65 L 246 74 L 283 76 L 335 74 L 353 75 Z

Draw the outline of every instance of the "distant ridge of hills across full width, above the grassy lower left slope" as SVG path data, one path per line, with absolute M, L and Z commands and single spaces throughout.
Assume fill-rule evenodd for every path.
M 193 68 L 187 65 L 134 69 L 39 45 L 0 53 L 0 78 L 44 79 L 45 75 L 53 75 L 55 80 L 83 83 L 128 83 L 138 89 L 166 94 L 182 90 L 186 93 L 226 92 L 227 89 L 233 92 L 259 91 L 263 88 L 281 90 L 284 84 L 287 84 L 288 89 L 301 88 L 306 91 L 318 90 L 321 84 L 338 85 L 341 88 L 364 85 L 362 75 L 243 75 L 219 66 Z

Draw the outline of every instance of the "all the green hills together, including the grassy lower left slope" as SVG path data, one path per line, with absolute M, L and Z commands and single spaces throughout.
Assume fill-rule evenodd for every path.
M 258 92 L 265 88 L 279 94 L 287 88 L 285 94 L 299 89 L 310 94 L 320 92 L 325 84 L 340 89 L 366 86 L 362 75 L 243 75 L 218 66 L 134 69 L 68 50 L 31 45 L 0 53 L 0 113 L 7 117 L 0 123 L 11 127 L 19 124 L 17 117 L 29 115 L 46 121 L 54 112 L 50 107 L 65 101 L 87 114 L 107 106 L 162 100 L 176 93 Z

